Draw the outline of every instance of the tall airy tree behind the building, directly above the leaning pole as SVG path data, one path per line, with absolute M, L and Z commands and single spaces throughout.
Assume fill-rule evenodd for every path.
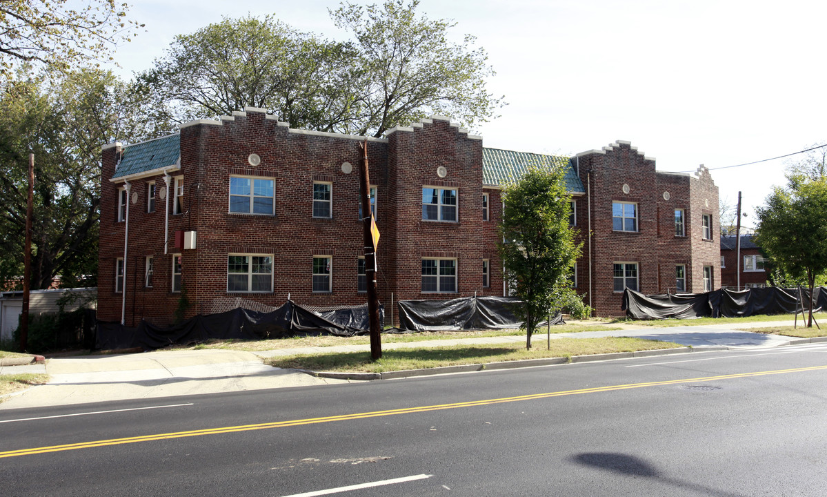
M 347 2 L 331 12 L 336 26 L 356 39 L 364 88 L 353 99 L 360 106 L 355 119 L 343 131 L 379 137 L 431 114 L 450 116 L 465 127 L 495 117 L 502 98 L 485 89 L 485 78 L 495 74 L 485 50 L 473 48 L 470 35 L 461 44 L 448 41 L 448 30 L 457 23 L 417 17 L 418 4 Z

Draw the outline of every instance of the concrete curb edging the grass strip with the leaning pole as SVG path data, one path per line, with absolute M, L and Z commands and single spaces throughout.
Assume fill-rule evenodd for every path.
M 655 351 L 612 352 L 609 354 L 592 354 L 589 356 L 547 357 L 544 359 L 527 359 L 524 361 L 488 362 L 485 364 L 463 364 L 461 366 L 442 366 L 423 370 L 387 371 L 385 373 L 356 373 L 339 371 L 297 370 L 318 378 L 335 380 L 396 380 L 399 378 L 414 378 L 416 376 L 445 375 L 447 373 L 470 373 L 483 370 L 510 370 L 523 367 L 555 366 L 558 364 L 594 361 L 612 361 L 614 359 L 629 359 L 631 357 L 669 356 L 672 354 L 686 354 L 691 351 L 724 351 L 727 347 L 709 347 L 693 349 L 682 346 L 674 349 L 660 349 Z

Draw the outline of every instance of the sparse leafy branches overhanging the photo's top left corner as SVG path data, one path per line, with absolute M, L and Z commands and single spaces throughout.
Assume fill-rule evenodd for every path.
M 126 20 L 127 3 L 115 0 L 2 0 L 0 74 L 12 76 L 16 62 L 42 62 L 67 70 L 112 60 L 112 49 L 136 28 Z M 131 33 L 131 35 L 130 35 Z

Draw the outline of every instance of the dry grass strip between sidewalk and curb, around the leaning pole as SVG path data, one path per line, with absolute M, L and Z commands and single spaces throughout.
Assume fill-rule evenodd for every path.
M 545 357 L 571 357 L 609 352 L 650 351 L 681 347 L 672 342 L 657 342 L 629 337 L 561 338 L 546 345 L 535 344 L 525 350 L 523 344 L 461 345 L 444 347 L 398 348 L 382 352 L 379 361 L 370 359 L 370 352 L 320 352 L 312 355 L 280 356 L 265 360 L 280 368 L 318 371 L 385 371 L 429 369 L 441 366 L 521 361 Z

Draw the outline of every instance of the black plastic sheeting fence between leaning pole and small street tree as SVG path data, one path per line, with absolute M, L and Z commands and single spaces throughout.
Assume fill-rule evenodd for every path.
M 511 297 L 462 297 L 449 300 L 400 300 L 399 328 L 403 331 L 461 331 L 519 327 L 514 313 L 521 303 Z M 561 313 L 552 324 L 562 324 Z M 541 323 L 545 324 L 545 323 Z

